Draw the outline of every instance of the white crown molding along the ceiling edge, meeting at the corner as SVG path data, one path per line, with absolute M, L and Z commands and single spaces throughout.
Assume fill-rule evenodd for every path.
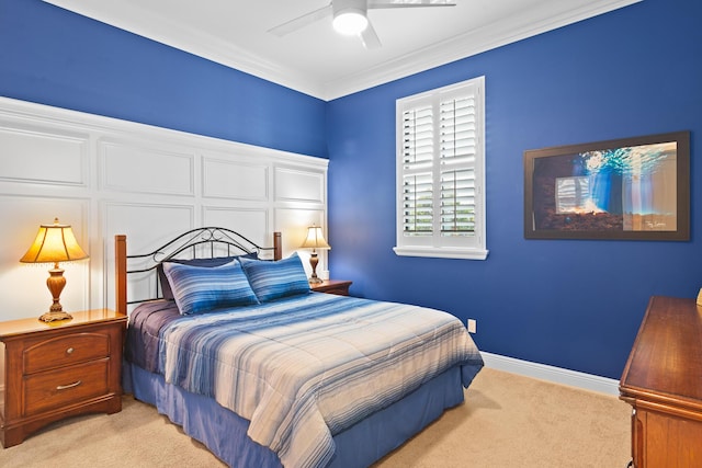
M 100 18 L 99 9 L 93 2 L 81 0 L 44 1 L 314 98 L 330 101 L 638 3 L 643 0 L 595 1 L 578 9 L 557 14 L 535 10 L 528 14 L 500 20 L 497 23 L 467 32 L 395 60 L 385 61 L 381 66 L 359 70 L 355 73 L 327 82 L 305 75 L 297 69 L 270 61 L 246 49 L 235 47 L 202 31 L 191 28 L 186 24 L 168 23 L 161 16 L 144 14 L 144 11 L 129 11 L 128 4 L 122 9 L 118 19 L 113 19 L 114 24 L 112 24 Z

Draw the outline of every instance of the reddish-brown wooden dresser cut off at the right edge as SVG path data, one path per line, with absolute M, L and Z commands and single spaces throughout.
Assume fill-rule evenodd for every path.
M 620 383 L 635 468 L 702 467 L 702 307 L 655 296 Z

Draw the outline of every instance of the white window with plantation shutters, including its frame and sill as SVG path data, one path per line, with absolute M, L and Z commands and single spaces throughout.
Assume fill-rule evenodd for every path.
M 485 78 L 397 100 L 398 255 L 485 260 Z

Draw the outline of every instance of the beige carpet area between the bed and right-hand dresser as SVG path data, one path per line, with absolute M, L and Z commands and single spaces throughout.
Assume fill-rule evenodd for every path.
M 624 468 L 630 431 L 616 397 L 483 369 L 464 404 L 376 466 Z

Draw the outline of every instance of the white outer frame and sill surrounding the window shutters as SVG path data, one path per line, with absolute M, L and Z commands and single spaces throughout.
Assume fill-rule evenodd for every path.
M 409 238 L 404 236 L 404 199 L 403 199 L 403 106 L 409 101 L 451 93 L 466 85 L 477 88 L 476 116 L 477 141 L 475 161 L 475 237 L 466 238 L 466 247 L 435 246 L 428 242 L 431 238 Z M 442 259 L 486 260 L 489 251 L 486 243 L 485 212 L 485 77 L 477 77 L 456 84 L 439 88 L 396 101 L 396 235 L 397 244 L 393 250 L 403 256 L 429 256 Z

